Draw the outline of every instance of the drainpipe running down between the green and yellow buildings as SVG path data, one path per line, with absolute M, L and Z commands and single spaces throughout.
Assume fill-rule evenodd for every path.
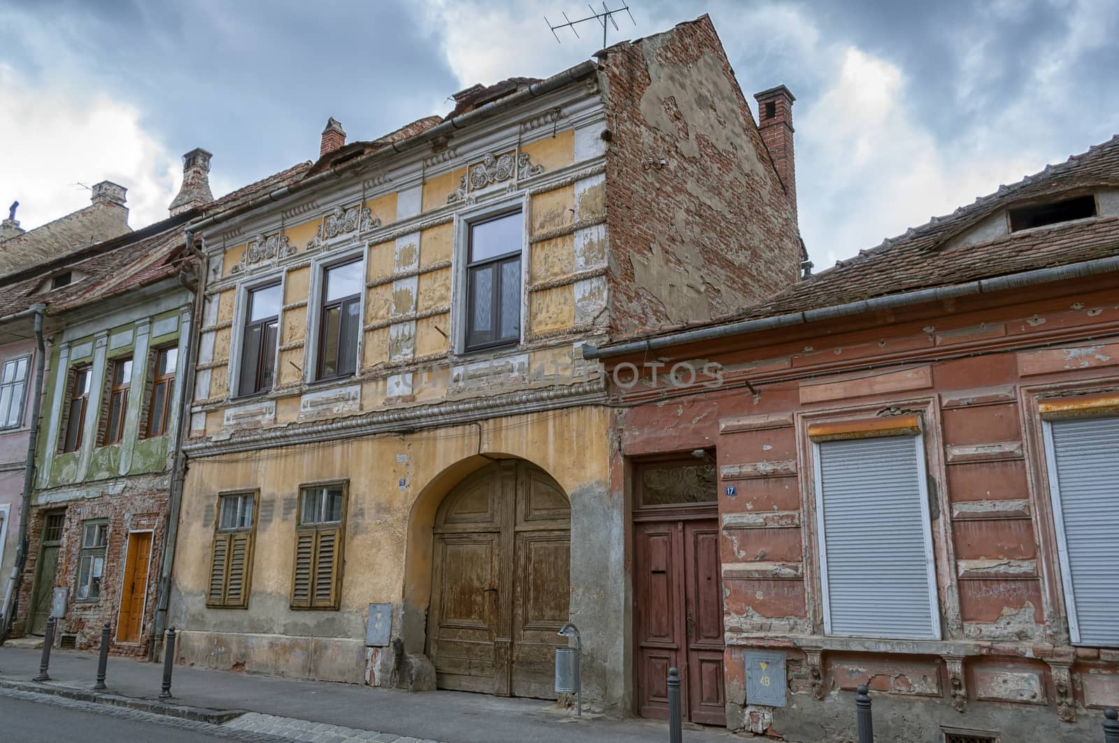
M 196 254 L 195 234 L 186 231 L 187 251 Z M 186 281 L 180 281 L 184 286 L 195 294 L 194 310 L 191 312 L 192 327 L 187 337 L 187 352 L 184 359 L 185 366 L 182 375 L 182 388 L 179 391 L 179 416 L 175 422 L 175 451 L 171 454 L 171 487 L 167 504 L 167 539 L 163 547 L 163 564 L 159 574 L 159 596 L 156 603 L 156 631 L 152 641 L 148 645 L 148 660 L 157 660 L 159 639 L 167 628 L 167 608 L 171 599 L 171 570 L 175 567 L 175 544 L 179 533 L 179 512 L 182 509 L 182 483 L 187 478 L 187 455 L 182 451 L 182 440 L 186 434 L 186 424 L 190 417 L 190 405 L 194 403 L 192 391 L 195 388 L 195 356 L 198 352 L 198 339 L 200 337 L 203 323 L 203 301 L 206 297 L 206 262 L 199 263 L 198 281 L 191 288 Z

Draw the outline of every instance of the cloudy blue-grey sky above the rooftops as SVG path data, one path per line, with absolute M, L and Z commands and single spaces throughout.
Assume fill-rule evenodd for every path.
M 1113 0 L 631 0 L 611 43 L 708 12 L 739 82 L 783 83 L 818 267 L 1119 133 Z M 617 7 L 617 0 L 611 7 Z M 35 227 L 129 188 L 133 227 L 214 152 L 220 195 L 314 159 L 327 116 L 373 139 L 477 82 L 589 58 L 574 0 L 0 0 L 0 204 Z

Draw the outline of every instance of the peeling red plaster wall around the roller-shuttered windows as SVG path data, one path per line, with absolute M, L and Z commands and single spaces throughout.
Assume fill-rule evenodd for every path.
M 732 730 L 853 740 L 853 689 L 866 683 L 884 740 L 939 742 L 941 725 L 1098 740 L 1101 708 L 1119 702 L 1119 651 L 1070 645 L 1037 399 L 1119 391 L 1113 286 L 1101 276 L 661 350 L 659 386 L 647 375 L 614 388 L 634 405 L 615 416 L 626 457 L 716 451 Z M 678 392 L 665 372 L 685 359 L 722 364 L 723 386 L 664 398 Z M 828 637 L 807 425 L 912 412 L 943 639 Z M 787 707 L 750 704 L 749 648 L 787 652 Z

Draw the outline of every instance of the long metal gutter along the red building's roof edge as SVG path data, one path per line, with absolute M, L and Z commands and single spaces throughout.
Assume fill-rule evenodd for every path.
M 993 279 L 980 279 L 978 281 L 971 281 L 966 284 L 956 284 L 953 286 L 921 289 L 918 291 L 904 292 L 902 294 L 875 297 L 874 299 L 862 300 L 859 302 L 835 304 L 833 307 L 825 307 L 816 310 L 777 314 L 771 318 L 740 320 L 737 322 L 731 322 L 722 326 L 697 328 L 696 330 L 684 330 L 680 332 L 658 336 L 656 338 L 634 340 L 603 348 L 583 344 L 583 358 L 601 359 L 612 358 L 615 356 L 627 356 L 629 354 L 641 354 L 673 346 L 683 346 L 705 340 L 717 340 L 721 338 L 728 338 L 731 336 L 743 336 L 751 332 L 774 330 L 790 326 L 808 325 L 810 322 L 834 320 L 836 318 L 864 314 L 866 312 L 894 310 L 913 304 L 935 302 L 956 297 L 988 294 L 991 292 L 1006 291 L 1008 289 L 1022 289 L 1024 286 L 1034 286 L 1037 284 L 1064 281 L 1068 279 L 1080 279 L 1111 271 L 1119 271 L 1119 255 L 1112 255 L 1106 258 L 1096 258 L 1093 261 L 1083 261 L 1081 263 L 1070 263 L 1069 265 L 1037 269 L 1035 271 L 1024 271 L 1022 273 L 1012 273 L 1005 276 L 995 276 Z

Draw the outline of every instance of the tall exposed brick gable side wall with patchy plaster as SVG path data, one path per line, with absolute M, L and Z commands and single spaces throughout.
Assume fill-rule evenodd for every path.
M 705 320 L 797 281 L 794 204 L 711 19 L 602 63 L 613 333 Z

